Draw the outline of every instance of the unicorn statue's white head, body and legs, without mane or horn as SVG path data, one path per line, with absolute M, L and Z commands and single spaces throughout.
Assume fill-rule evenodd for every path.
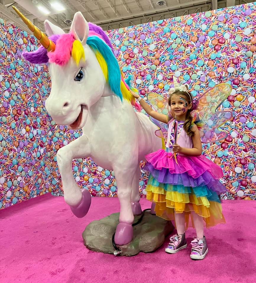
M 48 36 L 64 33 L 48 21 L 45 26 Z M 140 161 L 161 148 L 162 142 L 155 136 L 157 126 L 110 90 L 95 53 L 86 44 L 89 28 L 80 12 L 74 15 L 71 32 L 84 47 L 85 62 L 81 68 L 72 57 L 64 66 L 50 63 L 52 89 L 46 100 L 57 124 L 82 128 L 79 138 L 57 152 L 64 199 L 77 217 L 88 212 L 91 196 L 74 180 L 73 159 L 91 157 L 99 166 L 114 170 L 120 201 L 115 242 L 124 245 L 133 238 L 134 215 L 141 213 Z

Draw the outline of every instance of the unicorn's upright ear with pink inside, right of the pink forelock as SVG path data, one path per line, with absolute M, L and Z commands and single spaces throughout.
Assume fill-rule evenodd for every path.
M 74 14 L 70 32 L 74 35 L 76 40 L 81 41 L 82 45 L 86 44 L 86 40 L 89 34 L 89 26 L 88 22 L 86 22 L 86 19 L 81 12 Z

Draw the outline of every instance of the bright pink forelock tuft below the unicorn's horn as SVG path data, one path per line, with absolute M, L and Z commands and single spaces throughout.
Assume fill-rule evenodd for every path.
M 72 34 L 62 34 L 56 41 L 54 52 L 48 52 L 49 62 L 64 66 L 70 59 L 74 37 Z

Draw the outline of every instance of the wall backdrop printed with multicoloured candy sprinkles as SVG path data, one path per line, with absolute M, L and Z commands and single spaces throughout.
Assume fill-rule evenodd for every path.
M 233 111 L 225 141 L 205 145 L 204 154 L 220 164 L 224 199 L 255 200 L 256 12 L 255 4 L 208 11 L 108 31 L 125 76 L 135 87 L 166 95 L 175 75 L 200 96 L 218 83 L 232 85 L 222 108 Z M 51 82 L 47 66 L 31 66 L 21 51 L 34 50 L 33 36 L 0 19 L 0 208 L 51 192 L 62 195 L 57 150 L 80 135 L 56 126 L 44 101 Z M 74 178 L 93 196 L 116 196 L 114 172 L 91 159 L 73 162 Z M 145 197 L 147 175 L 140 191 Z

